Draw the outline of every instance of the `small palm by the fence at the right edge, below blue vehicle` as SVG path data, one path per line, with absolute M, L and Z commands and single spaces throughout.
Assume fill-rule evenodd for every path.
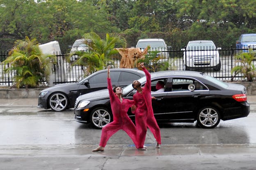
M 253 51 L 253 49 L 249 49 L 248 53 L 240 53 L 235 56 L 235 58 L 237 59 L 235 63 L 239 63 L 240 65 L 232 68 L 232 81 L 233 78 L 239 73 L 243 75 L 243 78 L 247 78 L 247 81 L 254 81 L 254 79 L 256 78 L 256 67 L 253 64 L 253 60 L 255 59 L 255 57 L 256 53 Z

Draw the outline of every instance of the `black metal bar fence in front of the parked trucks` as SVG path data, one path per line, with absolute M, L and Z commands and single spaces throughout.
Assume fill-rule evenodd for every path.
M 204 72 L 209 76 L 213 76 L 221 81 L 231 81 L 231 69 L 236 65 L 241 63 L 236 62 L 235 55 L 240 53 L 245 49 L 235 49 L 232 46 L 230 48 L 225 49 L 192 49 L 192 50 L 174 50 L 174 49 L 161 49 L 158 53 L 162 55 L 164 59 L 160 59 L 158 63 L 149 63 L 149 65 L 157 65 L 159 63 L 168 62 L 167 70 L 184 70 L 190 69 L 199 72 Z M 150 50 L 149 50 L 150 51 Z M 219 53 L 218 57 L 216 53 Z M 203 53 L 203 54 L 202 54 Z M 5 73 L 4 65 L 2 61 L 7 58 L 8 52 L 0 53 L 0 86 L 11 86 L 14 83 L 14 75 L 15 72 Z M 59 83 L 72 83 L 85 78 L 87 75 L 85 70 L 86 66 L 71 66 L 70 63 L 66 61 L 66 54 L 59 54 L 57 56 L 58 64 L 55 65 L 53 69 L 53 78 L 51 83 L 59 84 Z M 197 59 L 195 59 L 197 58 Z M 112 67 L 119 68 L 121 57 L 112 58 Z M 209 62 L 213 64 L 209 64 Z M 255 61 L 253 61 L 255 62 Z M 186 64 L 185 64 L 186 63 Z M 221 66 L 217 68 L 217 64 Z M 253 63 L 256 64 L 256 63 Z M 193 67 L 192 67 L 193 65 Z M 5 67 L 9 67 L 6 65 Z M 151 69 L 151 72 L 159 71 L 160 69 Z M 233 77 L 233 80 L 241 79 L 242 75 L 239 74 Z

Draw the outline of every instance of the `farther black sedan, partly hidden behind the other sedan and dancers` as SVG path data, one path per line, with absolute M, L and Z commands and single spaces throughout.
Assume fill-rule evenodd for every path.
M 138 69 L 110 69 L 112 85 L 121 87 L 129 85 L 132 81 L 145 76 Z M 38 97 L 37 108 L 64 111 L 73 108 L 75 99 L 89 92 L 107 89 L 107 69 L 95 72 L 76 83 L 65 83 L 43 89 Z

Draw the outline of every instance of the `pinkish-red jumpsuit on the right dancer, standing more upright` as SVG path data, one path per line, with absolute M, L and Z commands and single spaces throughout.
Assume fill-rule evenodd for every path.
M 146 75 L 146 84 L 142 88 L 142 93 L 137 92 L 133 95 L 134 104 L 137 106 L 135 110 L 135 124 L 139 148 L 143 148 L 147 127 L 149 127 L 149 130 L 153 133 L 156 141 L 161 144 L 160 128 L 156 123 L 152 108 L 151 75 L 145 67 L 143 71 Z

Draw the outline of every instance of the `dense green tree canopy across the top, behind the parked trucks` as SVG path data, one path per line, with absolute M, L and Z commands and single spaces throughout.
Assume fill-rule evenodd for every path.
M 173 48 L 197 39 L 227 47 L 256 32 L 255 9 L 254 0 L 0 0 L 0 49 L 28 36 L 57 40 L 66 51 L 89 32 L 120 34 L 128 47 L 140 38 L 164 38 Z

